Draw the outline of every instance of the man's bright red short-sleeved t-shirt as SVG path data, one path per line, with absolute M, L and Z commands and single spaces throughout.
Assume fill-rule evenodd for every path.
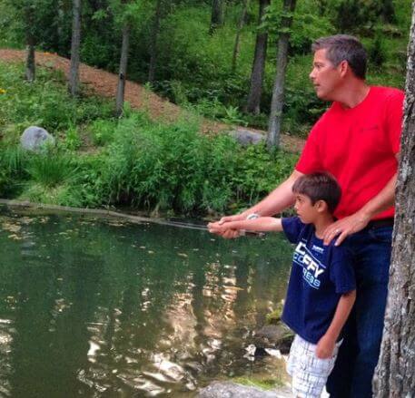
M 312 128 L 295 169 L 304 174 L 324 170 L 336 177 L 341 185 L 337 218 L 361 209 L 396 173 L 403 99 L 398 89 L 371 87 L 354 108 L 333 102 Z M 393 214 L 390 207 L 374 219 Z

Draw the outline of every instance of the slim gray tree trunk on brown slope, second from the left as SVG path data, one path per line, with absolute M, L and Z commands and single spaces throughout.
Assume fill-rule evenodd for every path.
M 79 90 L 79 51 L 81 45 L 81 0 L 73 0 L 73 24 L 69 92 L 75 96 Z

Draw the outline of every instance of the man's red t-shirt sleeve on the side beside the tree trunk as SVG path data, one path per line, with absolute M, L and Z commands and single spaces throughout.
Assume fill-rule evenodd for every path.
M 400 151 L 400 134 L 402 132 L 404 93 L 400 90 L 393 92 L 387 105 L 387 129 L 390 146 L 396 155 Z

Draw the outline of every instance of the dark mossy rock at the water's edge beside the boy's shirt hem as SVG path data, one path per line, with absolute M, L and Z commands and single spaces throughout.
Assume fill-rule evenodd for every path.
M 286 325 L 279 322 L 277 325 L 265 325 L 255 332 L 253 344 L 257 351 L 255 354 L 264 354 L 265 348 L 276 348 L 282 354 L 288 354 L 294 334 Z

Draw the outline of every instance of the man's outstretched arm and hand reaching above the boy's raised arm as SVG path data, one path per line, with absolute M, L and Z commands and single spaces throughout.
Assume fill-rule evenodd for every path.
M 295 180 L 302 175 L 303 174 L 300 171 L 292 171 L 291 176 L 283 181 L 276 189 L 272 190 L 265 199 L 262 199 L 259 203 L 252 206 L 252 208 L 247 209 L 240 214 L 222 217 L 219 220 L 219 223 L 226 224 L 232 221 L 241 221 L 246 219 L 247 216 L 252 213 L 256 213 L 260 216 L 273 216 L 283 209 L 289 208 L 294 203 L 294 195 L 291 191 L 292 185 L 294 185 Z M 213 230 L 212 232 L 221 235 L 223 238 L 237 238 L 239 236 L 238 231 L 232 228 L 223 229 L 222 232 L 215 232 Z

